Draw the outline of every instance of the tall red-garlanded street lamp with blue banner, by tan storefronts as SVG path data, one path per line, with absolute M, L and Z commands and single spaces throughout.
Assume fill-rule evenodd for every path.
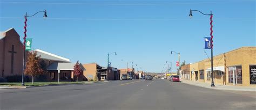
M 211 77 L 212 77 L 212 84 L 211 84 L 211 86 L 215 86 L 214 85 L 214 82 L 213 82 L 213 35 L 212 35 L 212 17 L 213 17 L 213 14 L 212 14 L 212 10 L 211 10 L 211 14 L 205 14 L 205 13 L 203 13 L 203 12 L 201 12 L 201 11 L 198 11 L 198 10 L 191 10 L 190 9 L 190 14 L 189 14 L 189 17 L 190 18 L 192 18 L 193 17 L 193 15 L 192 15 L 192 11 L 197 11 L 197 12 L 200 12 L 201 14 L 204 14 L 205 16 L 210 16 L 210 25 L 211 25 L 211 28 L 210 28 L 210 35 L 211 35 L 211 68 L 212 68 L 212 70 L 211 70 Z

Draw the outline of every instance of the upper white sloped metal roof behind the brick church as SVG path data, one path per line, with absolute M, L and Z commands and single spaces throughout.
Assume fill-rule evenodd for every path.
M 35 51 L 37 52 L 37 56 L 41 56 L 41 58 L 45 60 L 58 61 L 58 62 L 70 62 L 70 59 L 68 58 L 51 54 L 40 49 L 36 49 Z

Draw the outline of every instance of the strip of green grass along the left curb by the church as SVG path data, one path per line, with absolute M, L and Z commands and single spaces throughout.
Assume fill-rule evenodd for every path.
M 85 82 L 59 82 L 59 84 L 82 84 Z M 0 85 L 21 86 L 21 83 L 0 83 Z M 58 82 L 25 82 L 25 86 L 58 85 Z

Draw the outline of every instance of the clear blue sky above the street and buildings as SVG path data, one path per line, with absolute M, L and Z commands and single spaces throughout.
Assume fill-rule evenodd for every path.
M 28 38 L 33 49 L 70 58 L 72 62 L 97 62 L 126 68 L 133 61 L 142 70 L 161 72 L 165 61 L 194 63 L 207 56 L 204 38 L 210 36 L 213 16 L 214 55 L 243 46 L 255 46 L 255 1 L 28 1 L 0 0 L 0 31 L 14 27 L 23 39 L 23 16 L 28 18 Z M 23 40 L 22 40 L 23 41 Z M 210 50 L 206 50 L 210 55 Z M 131 67 L 131 64 L 129 65 Z M 135 66 L 134 66 L 135 67 Z M 135 67 L 137 68 L 137 67 Z

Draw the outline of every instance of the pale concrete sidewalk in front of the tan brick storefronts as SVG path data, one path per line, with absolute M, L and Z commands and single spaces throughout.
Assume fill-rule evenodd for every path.
M 186 80 L 186 79 L 181 79 L 181 83 L 190 84 L 190 85 L 194 85 L 194 86 L 205 87 L 205 88 L 208 88 L 208 89 L 215 89 L 215 90 L 253 91 L 253 92 L 256 92 L 256 86 L 248 87 L 248 86 L 232 86 L 232 85 L 215 84 L 215 87 L 211 87 L 210 83 L 195 82 L 195 81 Z

